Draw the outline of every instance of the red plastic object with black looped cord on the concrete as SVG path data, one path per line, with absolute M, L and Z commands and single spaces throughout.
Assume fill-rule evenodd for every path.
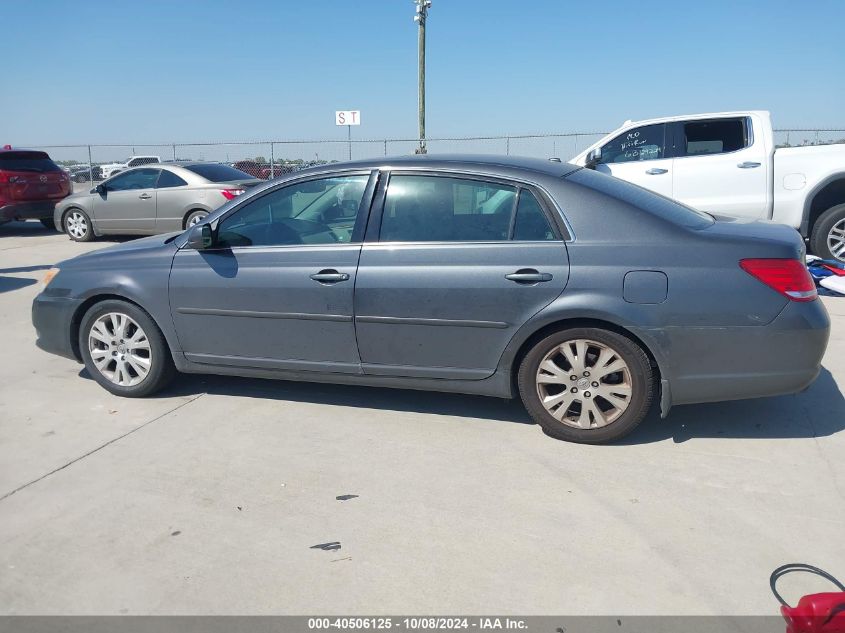
M 791 572 L 803 571 L 831 581 L 840 591 L 814 593 L 804 596 L 794 607 L 789 606 L 777 592 L 778 578 Z M 786 633 L 845 633 L 845 587 L 826 571 L 792 563 L 778 567 L 769 579 L 772 593 L 781 603 L 780 613 L 786 620 Z

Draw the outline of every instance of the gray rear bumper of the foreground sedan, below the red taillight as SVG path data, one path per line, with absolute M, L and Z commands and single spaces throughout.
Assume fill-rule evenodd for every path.
M 675 404 L 797 393 L 819 375 L 830 318 L 818 299 L 790 301 L 764 326 L 641 330 L 665 361 L 662 378 Z M 667 408 L 668 410 L 668 408 Z

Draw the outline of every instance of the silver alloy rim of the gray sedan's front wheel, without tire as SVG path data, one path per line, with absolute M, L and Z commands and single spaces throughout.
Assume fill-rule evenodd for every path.
M 134 387 L 150 373 L 152 350 L 141 326 L 126 314 L 109 312 L 88 331 L 88 353 L 110 382 Z

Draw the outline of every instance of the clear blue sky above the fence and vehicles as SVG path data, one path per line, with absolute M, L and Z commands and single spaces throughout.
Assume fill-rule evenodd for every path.
M 845 1 L 433 0 L 430 137 L 769 109 L 845 126 Z M 411 0 L 2 3 L 0 141 L 416 135 Z

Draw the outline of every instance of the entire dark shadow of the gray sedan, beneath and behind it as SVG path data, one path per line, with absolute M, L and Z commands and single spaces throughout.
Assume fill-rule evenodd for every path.
M 90 380 L 83 368 L 79 376 Z M 211 374 L 182 374 L 158 397 L 209 393 L 288 402 L 308 402 L 383 411 L 467 417 L 534 424 L 519 399 L 334 385 Z M 639 427 L 616 445 L 695 438 L 793 439 L 833 435 L 845 429 L 845 398 L 827 369 L 806 391 L 773 398 L 673 407 L 660 419 L 657 404 Z

